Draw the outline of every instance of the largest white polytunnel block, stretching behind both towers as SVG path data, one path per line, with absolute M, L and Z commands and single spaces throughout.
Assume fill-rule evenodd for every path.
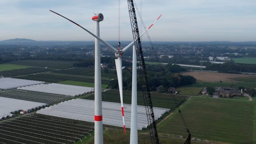
M 145 106 L 137 106 L 138 109 L 138 130 L 147 128 L 148 119 Z M 155 108 L 155 120 L 159 119 L 165 112 L 170 111 L 167 108 Z M 73 99 L 61 102 L 47 108 L 42 108 L 36 113 L 81 120 L 86 122 L 94 122 L 94 100 Z M 123 119 L 121 113 L 121 103 L 102 101 L 102 119 L 103 124 L 123 127 Z M 131 128 L 131 105 L 124 104 L 125 127 Z

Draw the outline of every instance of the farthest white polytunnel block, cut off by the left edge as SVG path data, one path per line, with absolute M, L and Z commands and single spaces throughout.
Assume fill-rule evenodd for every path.
M 26 79 L 18 79 L 18 78 L 0 78 L 0 89 L 9 90 L 16 89 L 17 87 L 34 85 L 34 84 L 43 84 L 41 81 L 32 81 Z

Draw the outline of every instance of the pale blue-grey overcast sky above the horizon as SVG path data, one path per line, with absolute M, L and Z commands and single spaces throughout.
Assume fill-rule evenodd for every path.
M 130 41 L 127 1 L 120 1 L 121 40 Z M 135 2 L 140 7 L 140 0 Z M 93 40 L 83 29 L 49 10 L 93 33 L 93 12 L 102 13 L 100 37 L 118 40 L 118 0 L 0 0 L 0 7 L 0 40 Z M 160 14 L 149 31 L 152 41 L 256 41 L 256 0 L 142 0 L 142 19 L 147 27 Z

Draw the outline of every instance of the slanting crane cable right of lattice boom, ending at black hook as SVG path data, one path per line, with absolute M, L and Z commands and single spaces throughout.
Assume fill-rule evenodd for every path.
M 143 20 L 142 20 L 142 18 L 141 18 L 140 12 L 139 12 L 138 7 L 137 7 L 137 5 L 136 5 L 135 2 L 134 2 L 134 5 L 135 5 L 135 8 L 137 9 L 137 12 L 138 12 L 138 14 L 139 14 L 141 23 L 142 23 L 144 29 L 146 29 L 145 24 L 144 24 L 144 22 L 143 22 Z M 154 47 L 154 45 L 153 45 L 153 43 L 152 43 L 152 41 L 151 41 L 151 38 L 150 38 L 150 36 L 149 36 L 149 34 L 148 34 L 148 31 L 146 31 L 146 34 L 147 34 L 147 36 L 148 36 L 148 40 L 149 40 L 149 42 L 150 42 L 150 44 L 151 44 L 151 47 L 152 47 L 152 49 L 153 49 L 153 51 L 154 51 L 154 54 L 155 54 L 155 56 L 156 56 L 156 60 L 157 60 L 157 62 L 158 62 L 158 64 L 159 64 L 159 67 L 161 68 L 161 71 L 162 71 L 162 73 L 163 73 L 164 79 L 170 84 L 170 82 L 169 82 L 167 76 L 166 76 L 165 73 L 164 73 L 164 68 L 162 67 L 162 64 L 160 63 L 159 57 L 158 57 L 158 55 L 157 55 L 157 53 L 156 53 L 156 49 L 155 49 L 155 47 Z M 172 92 L 172 89 L 171 89 L 170 87 L 169 87 L 169 91 Z M 185 128 L 186 128 L 186 130 L 187 130 L 187 132 L 188 132 L 188 138 L 187 138 L 187 140 L 185 141 L 184 144 L 190 144 L 191 134 L 190 134 L 190 132 L 189 132 L 188 125 L 187 125 L 187 123 L 186 123 L 186 121 L 185 121 L 185 119 L 184 119 L 184 116 L 183 116 L 182 113 L 181 113 L 180 107 L 179 107 L 178 102 L 177 102 L 175 96 L 173 95 L 173 93 L 172 93 L 172 98 L 173 98 L 173 101 L 174 101 L 174 103 L 175 103 L 175 105 L 176 105 L 177 110 L 178 110 L 179 113 L 180 113 L 180 117 L 181 117 L 181 119 L 182 119 L 182 122 L 183 122 L 183 124 L 184 124 L 184 126 L 185 126 Z

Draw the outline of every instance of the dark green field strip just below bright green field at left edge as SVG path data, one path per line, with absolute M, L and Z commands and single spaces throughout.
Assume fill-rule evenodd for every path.
M 50 71 L 51 68 L 36 68 L 36 67 L 29 67 L 29 68 L 22 68 L 22 69 L 13 69 L 13 70 L 6 70 L 0 71 L 0 75 L 3 76 L 17 76 L 17 75 L 26 75 L 26 74 L 33 74 L 33 73 L 40 73 L 44 71 Z

